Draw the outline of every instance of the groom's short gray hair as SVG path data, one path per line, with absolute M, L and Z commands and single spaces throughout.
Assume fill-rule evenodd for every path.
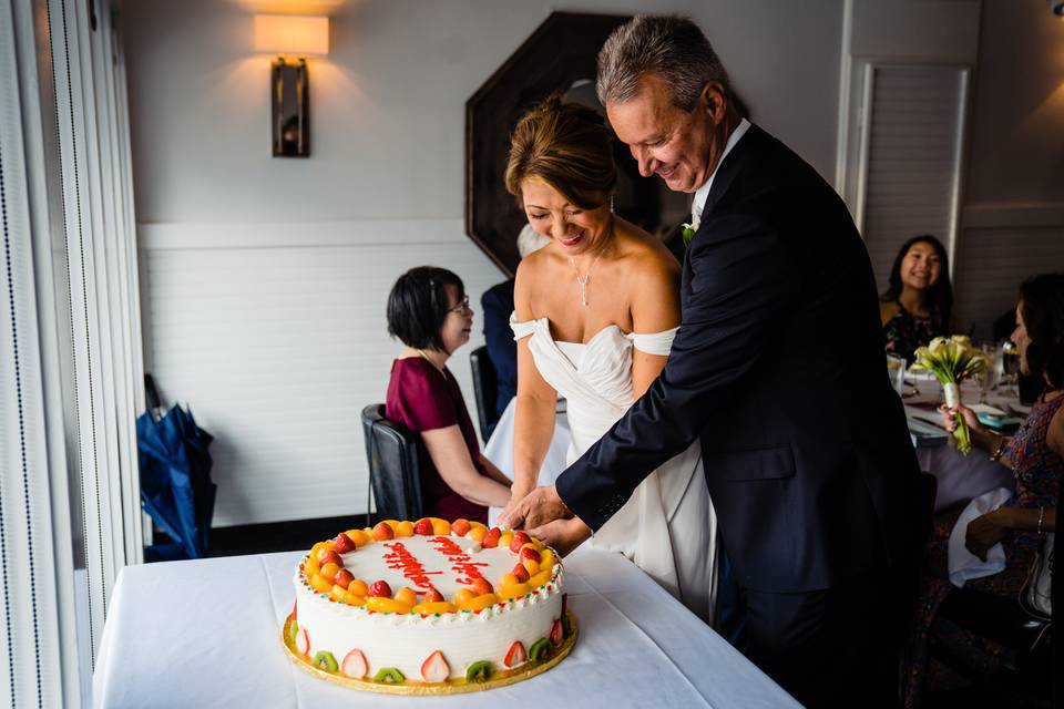
M 672 90 L 673 103 L 690 111 L 706 83 L 715 81 L 732 95 L 728 72 L 709 40 L 687 18 L 637 14 L 615 29 L 598 52 L 598 101 L 624 103 L 640 91 L 640 81 L 656 74 Z

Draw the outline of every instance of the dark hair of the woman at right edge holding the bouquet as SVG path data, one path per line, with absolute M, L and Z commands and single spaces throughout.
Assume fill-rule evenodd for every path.
M 1064 387 L 1064 274 L 1042 274 L 1020 286 L 1027 329 L 1027 367 L 1053 389 Z

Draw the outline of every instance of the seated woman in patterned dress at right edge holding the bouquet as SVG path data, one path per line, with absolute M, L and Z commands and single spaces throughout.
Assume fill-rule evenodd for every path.
M 983 561 L 999 542 L 1005 552 L 1003 571 L 970 579 L 964 588 L 1015 600 L 1043 535 L 1056 525 L 1056 504 L 1064 476 L 1064 274 L 1037 276 L 1021 286 L 1016 329 L 1011 339 L 1020 353 L 1020 370 L 1044 382 L 1044 392 L 1031 408 L 1026 423 L 1009 438 L 985 429 L 965 407 L 943 408 L 943 414 L 952 432 L 956 428 L 954 414 L 960 411 L 971 429 L 973 445 L 1015 474 L 1012 497 L 993 512 L 975 517 L 964 533 L 964 546 Z M 949 647 L 951 656 L 966 658 L 973 668 L 984 672 L 994 671 L 1004 659 L 1001 646 L 935 618 L 951 587 L 947 580 L 947 551 L 959 515 L 960 511 L 953 510 L 935 516 L 929 563 L 921 583 L 918 631 L 908 658 L 908 707 L 919 703 L 925 684 L 927 644 L 931 633 Z

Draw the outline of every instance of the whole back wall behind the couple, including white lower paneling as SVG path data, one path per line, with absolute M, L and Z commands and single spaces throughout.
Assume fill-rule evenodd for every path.
M 338 4 L 329 55 L 310 65 L 314 153 L 275 160 L 253 6 L 124 7 L 146 361 L 217 436 L 216 525 L 365 510 L 358 413 L 383 399 L 399 349 L 385 335 L 388 287 L 423 263 L 458 271 L 474 302 L 501 279 L 462 229 L 466 100 L 552 10 L 645 9 Z M 841 7 L 654 10 L 706 28 L 755 120 L 830 175 Z M 480 342 L 452 362 L 470 407 Z

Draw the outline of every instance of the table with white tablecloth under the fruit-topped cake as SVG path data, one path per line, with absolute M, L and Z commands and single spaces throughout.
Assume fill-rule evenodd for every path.
M 799 707 L 624 557 L 566 558 L 580 637 L 528 681 L 452 697 L 392 697 L 326 682 L 280 644 L 301 553 L 126 566 L 93 676 L 96 707 Z

